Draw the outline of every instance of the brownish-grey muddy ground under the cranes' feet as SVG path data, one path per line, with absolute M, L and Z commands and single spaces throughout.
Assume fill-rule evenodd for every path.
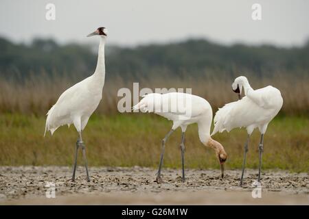
M 155 182 L 153 168 L 90 168 L 91 182 L 78 167 L 75 182 L 71 168 L 58 166 L 1 166 L 0 204 L 304 204 L 309 205 L 308 173 L 264 170 L 262 198 L 253 198 L 257 170 L 246 170 L 239 186 L 240 170 L 163 169 L 163 183 Z M 54 183 L 56 198 L 46 198 Z M 52 185 L 53 186 L 53 185 Z M 49 191 L 52 191 L 50 189 Z M 256 189 L 255 189 L 256 191 Z M 256 193 L 258 194 L 258 193 Z

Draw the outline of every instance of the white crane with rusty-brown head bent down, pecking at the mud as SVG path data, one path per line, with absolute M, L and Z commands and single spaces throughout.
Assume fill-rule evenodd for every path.
M 168 120 L 173 121 L 172 129 L 162 140 L 162 151 L 159 163 L 159 170 L 157 172 L 157 183 L 161 183 L 161 166 L 163 163 L 163 155 L 165 150 L 165 142 L 168 140 L 172 132 L 181 127 L 181 162 L 183 168 L 182 180 L 185 181 L 185 130 L 187 125 L 192 123 L 198 124 L 198 136 L 201 142 L 216 153 L 216 159 L 220 163 L 221 177 L 224 176 L 224 164 L 227 159 L 227 153 L 223 146 L 210 137 L 210 127 L 212 122 L 212 110 L 209 103 L 192 94 L 185 94 L 179 92 L 171 92 L 167 94 L 147 94 L 141 101 L 133 107 L 133 110 L 141 110 L 141 112 L 153 112 Z

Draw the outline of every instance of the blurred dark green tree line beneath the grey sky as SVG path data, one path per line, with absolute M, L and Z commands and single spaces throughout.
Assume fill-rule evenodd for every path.
M 95 68 L 96 49 L 83 44 L 58 44 L 52 39 L 16 44 L 0 38 L 0 76 L 23 79 L 42 72 L 87 76 Z M 281 72 L 308 75 L 309 41 L 303 47 L 291 48 L 266 44 L 227 46 L 204 39 L 138 47 L 107 46 L 106 71 L 107 77 L 124 78 L 233 76 L 240 72 L 259 77 Z

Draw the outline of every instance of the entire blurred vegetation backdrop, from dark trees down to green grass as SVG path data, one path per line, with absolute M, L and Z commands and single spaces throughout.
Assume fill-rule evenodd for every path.
M 0 165 L 71 165 L 76 131 L 62 127 L 43 138 L 45 114 L 58 96 L 93 73 L 98 45 L 58 44 L 35 39 L 16 44 L 0 38 Z M 89 165 L 157 166 L 161 138 L 171 123 L 155 115 L 119 114 L 119 88 L 192 88 L 214 112 L 236 101 L 234 77 L 249 77 L 257 89 L 273 85 L 284 106 L 269 126 L 264 168 L 308 172 L 309 41 L 303 47 L 225 46 L 195 39 L 172 44 L 106 47 L 103 100 L 84 133 Z M 240 168 L 246 133 L 218 133 L 229 154 L 228 168 Z M 180 133 L 170 140 L 165 165 L 180 167 Z M 213 151 L 198 140 L 197 127 L 187 131 L 187 168 L 218 168 Z M 248 166 L 258 165 L 258 133 L 253 135 Z M 207 155 L 207 154 L 210 155 Z

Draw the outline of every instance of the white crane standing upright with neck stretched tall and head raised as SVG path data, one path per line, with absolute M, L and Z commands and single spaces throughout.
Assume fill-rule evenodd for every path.
M 76 153 L 73 167 L 72 181 L 75 180 L 78 149 L 82 149 L 84 166 L 87 172 L 87 181 L 89 179 L 86 147 L 82 141 L 82 130 L 86 127 L 89 117 L 98 107 L 102 99 L 102 90 L 105 79 L 105 61 L 104 45 L 106 42 L 107 31 L 105 27 L 99 27 L 89 36 L 100 36 L 100 46 L 98 51 L 98 63 L 95 72 L 90 77 L 76 83 L 71 88 L 63 92 L 58 101 L 47 112 L 45 133 L 50 131 L 52 134 L 62 125 L 73 125 L 78 131 L 78 140 L 76 142 Z M 45 136 L 44 133 L 44 136 Z

